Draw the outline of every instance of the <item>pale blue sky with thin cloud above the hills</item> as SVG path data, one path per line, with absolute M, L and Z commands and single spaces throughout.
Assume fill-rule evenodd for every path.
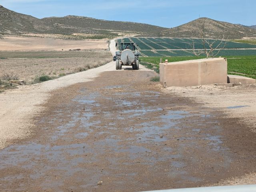
M 256 0 L 0 0 L 0 5 L 36 18 L 76 15 L 176 27 L 200 16 L 256 25 Z

